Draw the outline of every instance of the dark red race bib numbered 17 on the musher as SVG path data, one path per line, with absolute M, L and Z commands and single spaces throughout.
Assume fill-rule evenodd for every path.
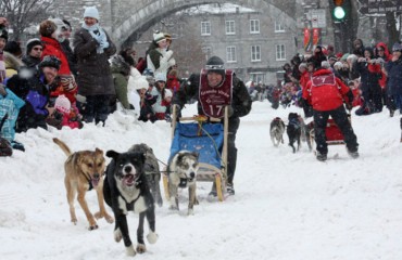
M 206 69 L 202 69 L 200 74 L 199 102 L 206 116 L 223 118 L 225 116 L 225 106 L 231 104 L 234 73 L 226 69 L 224 82 L 217 88 L 211 88 L 208 84 L 206 73 Z

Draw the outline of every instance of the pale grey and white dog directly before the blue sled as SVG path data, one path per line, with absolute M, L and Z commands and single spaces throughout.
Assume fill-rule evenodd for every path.
M 169 209 L 178 210 L 178 187 L 188 187 L 189 202 L 188 214 L 193 214 L 193 206 L 198 204 L 197 188 L 197 171 L 199 154 L 189 151 L 179 151 L 173 156 L 168 166 L 168 193 L 171 207 Z

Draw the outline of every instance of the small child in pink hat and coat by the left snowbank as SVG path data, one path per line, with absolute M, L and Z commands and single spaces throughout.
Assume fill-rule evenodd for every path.
M 61 118 L 61 127 L 70 127 L 74 128 L 83 128 L 83 122 L 80 121 L 78 109 L 76 107 L 72 107 L 70 100 L 64 95 L 59 95 L 55 99 L 54 103 L 54 113 L 59 113 L 55 117 Z

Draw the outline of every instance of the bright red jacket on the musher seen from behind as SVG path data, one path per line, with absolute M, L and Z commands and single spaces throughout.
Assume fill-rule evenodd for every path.
M 303 89 L 303 99 L 313 106 L 314 110 L 332 110 L 343 104 L 343 100 L 351 103 L 347 96 L 350 88 L 342 80 L 335 77 L 329 69 L 316 70 L 306 88 Z

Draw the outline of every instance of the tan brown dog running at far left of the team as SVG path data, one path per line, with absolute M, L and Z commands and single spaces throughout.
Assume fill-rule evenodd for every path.
M 89 222 L 89 230 L 98 229 L 95 219 L 105 218 L 109 223 L 113 223 L 113 218 L 108 214 L 103 204 L 103 172 L 105 169 L 105 159 L 103 151 L 96 148 L 92 151 L 80 151 L 72 153 L 68 146 L 61 140 L 54 138 L 53 142 L 58 144 L 68 158 L 64 162 L 65 178 L 64 184 L 67 192 L 67 202 L 72 222 L 77 223 L 77 217 L 74 208 L 74 197 L 78 193 L 77 200 L 81 206 Z M 99 212 L 89 211 L 85 194 L 95 188 L 98 195 Z

